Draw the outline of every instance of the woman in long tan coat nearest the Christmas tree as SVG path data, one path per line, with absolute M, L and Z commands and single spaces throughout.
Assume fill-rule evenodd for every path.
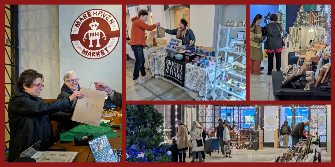
M 190 134 L 188 131 L 188 128 L 186 125 L 183 124 L 181 120 L 178 120 L 177 123 L 178 125 L 178 133 L 175 137 L 172 137 L 171 139 L 177 138 L 177 148 L 178 148 L 178 155 L 179 155 L 179 162 L 186 162 L 186 150 L 188 148 L 187 145 L 187 135 Z M 183 161 L 182 161 L 182 155 L 183 155 Z

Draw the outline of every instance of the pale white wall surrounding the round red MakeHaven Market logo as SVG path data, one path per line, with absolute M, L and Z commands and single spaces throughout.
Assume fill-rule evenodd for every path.
M 69 10 L 71 9 L 71 10 Z M 79 55 L 73 48 L 70 39 L 71 27 L 77 17 L 90 9 L 102 9 L 109 11 L 117 20 L 120 27 L 120 38 L 115 49 L 106 57 L 100 59 L 87 59 Z M 59 5 L 59 48 L 60 53 L 60 77 L 67 71 L 77 73 L 79 85 L 88 88 L 90 82 L 103 81 L 112 89 L 122 93 L 122 44 L 124 40 L 122 5 Z M 64 81 L 58 85 L 63 85 Z M 57 89 L 59 93 L 59 89 Z M 94 86 L 91 86 L 94 89 Z M 57 97 L 57 96 L 56 96 Z

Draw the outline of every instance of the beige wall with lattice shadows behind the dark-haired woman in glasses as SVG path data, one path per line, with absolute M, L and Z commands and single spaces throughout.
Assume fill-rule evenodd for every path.
M 60 93 L 58 33 L 58 5 L 19 5 L 19 74 L 30 68 L 43 74 L 43 99 Z

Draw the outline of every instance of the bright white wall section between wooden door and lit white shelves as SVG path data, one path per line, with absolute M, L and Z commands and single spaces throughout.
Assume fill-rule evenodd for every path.
M 214 5 L 190 5 L 190 22 L 195 35 L 195 44 L 212 47 L 214 33 Z M 198 24 L 198 26 L 194 26 Z

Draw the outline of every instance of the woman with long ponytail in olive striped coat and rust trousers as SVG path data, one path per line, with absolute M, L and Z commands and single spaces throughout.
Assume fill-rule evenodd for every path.
M 262 40 L 262 27 L 259 23 L 262 22 L 263 16 L 257 14 L 250 25 L 250 73 L 260 75 L 261 62 L 263 60 Z M 254 38 L 255 37 L 255 38 Z

